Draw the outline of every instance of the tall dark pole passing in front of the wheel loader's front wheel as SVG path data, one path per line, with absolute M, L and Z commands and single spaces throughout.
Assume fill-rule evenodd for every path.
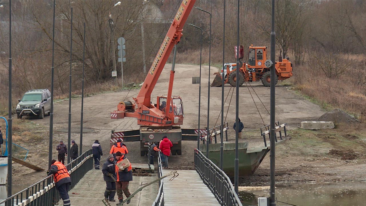
M 236 33 L 236 44 L 237 44 L 237 54 L 236 54 L 236 104 L 235 104 L 235 125 L 236 125 L 236 130 L 235 130 L 235 171 L 234 171 L 234 175 L 235 175 L 235 180 L 234 180 L 234 189 L 236 194 L 239 194 L 239 149 L 238 149 L 238 144 L 239 144 L 239 5 L 240 5 L 240 1 L 238 0 L 238 18 L 237 18 L 237 33 Z

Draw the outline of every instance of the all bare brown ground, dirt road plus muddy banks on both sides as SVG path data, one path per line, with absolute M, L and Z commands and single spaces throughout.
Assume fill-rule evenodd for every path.
M 151 101 L 156 102 L 156 96 L 166 95 L 170 65 L 167 65 L 162 72 L 161 77 L 154 88 Z M 198 128 L 198 84 L 192 84 L 192 77 L 199 76 L 199 66 L 176 65 L 175 82 L 173 86 L 173 95 L 179 95 L 184 104 L 184 124 L 182 128 Z M 217 68 L 211 67 L 211 74 L 216 72 Z M 201 128 L 207 126 L 207 94 L 208 94 L 208 66 L 202 67 L 202 97 L 201 97 Z M 210 75 L 210 81 L 214 78 Z M 87 85 L 86 85 L 87 87 Z M 225 96 L 227 100 L 224 106 L 225 119 L 229 122 L 229 139 L 234 139 L 234 130 L 232 125 L 235 121 L 235 92 L 229 85 L 225 87 Z M 110 112 L 116 109 L 117 104 L 123 100 L 131 100 L 137 96 L 139 90 L 102 93 L 84 98 L 84 135 L 83 150 L 91 148 L 94 140 L 101 142 L 104 154 L 109 152 L 109 137 L 111 130 L 123 131 L 138 129 L 137 120 L 134 118 L 111 119 Z M 263 87 L 261 83 L 254 82 L 251 86 L 240 87 L 239 95 L 239 117 L 244 123 L 244 139 L 248 141 L 249 147 L 262 143 L 262 137 L 259 136 L 259 128 L 263 124 L 269 124 L 269 87 Z M 127 96 L 127 98 L 126 98 Z M 253 99 L 252 99 L 253 96 Z M 260 100 L 258 99 L 258 97 Z M 231 100 L 231 101 L 230 101 Z M 72 135 L 76 143 L 79 143 L 80 130 L 80 111 L 81 98 L 72 99 Z M 230 104 L 229 104 L 230 102 Z M 262 105 L 262 103 L 264 106 Z M 259 113 L 257 111 L 258 107 Z M 55 103 L 54 106 L 54 136 L 53 136 L 53 157 L 57 158 L 55 150 L 59 140 L 67 142 L 68 125 L 68 100 Z M 210 128 L 220 124 L 219 113 L 221 110 L 221 87 L 210 88 Z M 226 112 L 228 111 L 228 113 Z M 309 132 L 298 129 L 301 121 L 313 120 L 319 118 L 323 111 L 319 106 L 309 102 L 302 96 L 296 94 L 288 86 L 276 87 L 276 120 L 288 123 L 288 129 L 292 139 L 276 147 L 276 180 L 277 181 L 337 181 L 337 180 L 363 180 L 366 175 L 360 173 L 366 169 L 365 158 L 361 147 L 365 144 L 363 133 L 354 134 L 353 130 L 344 132 L 343 130 L 331 130 L 321 132 Z M 262 118 L 263 121 L 262 121 Z M 32 133 L 38 132 L 41 138 L 35 142 L 31 140 L 23 147 L 30 149 L 28 161 L 46 169 L 48 161 L 48 127 L 49 117 L 44 119 L 26 119 L 16 120 L 21 122 L 18 133 L 22 129 L 30 130 Z M 30 123 L 33 121 L 34 123 Z M 36 125 L 40 124 L 40 125 Z M 321 136 L 322 134 L 323 136 Z M 349 148 L 339 143 L 347 140 L 347 146 L 353 143 L 363 143 L 359 150 L 352 148 L 355 152 L 355 158 L 352 160 L 343 160 L 339 155 L 341 153 L 331 152 L 329 150 L 339 150 L 345 152 Z M 354 135 L 357 138 L 348 141 L 347 135 Z M 32 143 L 30 143 L 32 142 Z M 146 157 L 140 157 L 139 142 L 126 143 L 130 151 L 128 158 L 132 163 L 144 163 Z M 80 146 L 79 146 L 80 147 Z M 169 166 L 173 168 L 193 168 L 193 151 L 197 147 L 195 141 L 184 141 L 182 143 L 182 155 L 171 156 Z M 347 152 L 347 151 L 346 151 Z M 343 154 L 343 153 L 342 153 Z M 106 156 L 104 156 L 106 157 Z M 104 159 L 103 157 L 103 159 Z M 234 161 L 234 160 L 233 160 Z M 37 173 L 20 165 L 13 165 L 14 184 L 31 184 L 41 179 L 45 172 Z M 254 176 L 244 177 L 241 185 L 267 184 L 269 183 L 269 154 L 265 157 L 262 164 L 257 169 Z

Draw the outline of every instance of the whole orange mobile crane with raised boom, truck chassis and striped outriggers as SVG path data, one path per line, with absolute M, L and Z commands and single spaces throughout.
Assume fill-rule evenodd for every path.
M 124 117 L 137 118 L 137 124 L 140 125 L 139 130 L 130 130 L 124 132 L 115 132 L 112 130 L 111 144 L 122 141 L 141 141 L 141 156 L 147 155 L 147 145 L 152 142 L 159 142 L 164 135 L 172 141 L 172 154 L 181 155 L 182 140 L 196 140 L 197 133 L 194 129 L 181 129 L 179 125 L 183 124 L 184 110 L 182 98 L 172 96 L 172 88 L 174 81 L 174 65 L 176 45 L 182 37 L 184 23 L 190 14 L 195 0 L 183 0 L 179 10 L 173 19 L 167 35 L 160 46 L 152 66 L 142 84 L 137 98 L 133 98 L 135 102 L 123 101 L 117 106 L 117 110 L 111 112 L 111 119 L 122 119 Z M 173 66 L 170 72 L 168 95 L 158 96 L 157 103 L 152 104 L 151 93 L 163 71 L 164 65 L 173 49 L 174 58 Z M 170 108 L 169 111 L 165 108 Z

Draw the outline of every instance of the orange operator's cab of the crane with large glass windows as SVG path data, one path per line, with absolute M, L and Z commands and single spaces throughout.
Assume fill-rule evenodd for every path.
M 166 117 L 168 117 L 168 119 L 171 119 L 173 121 L 172 122 L 173 125 L 182 125 L 184 117 L 182 98 L 180 98 L 179 96 L 172 96 L 168 114 L 166 114 L 167 113 L 165 108 L 166 105 L 167 105 L 167 96 L 158 96 L 156 107 L 160 111 L 162 111 L 162 113 Z

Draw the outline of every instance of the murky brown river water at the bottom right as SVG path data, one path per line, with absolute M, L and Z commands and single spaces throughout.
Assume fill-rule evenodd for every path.
M 269 190 L 241 195 L 243 205 L 258 205 L 258 196 L 269 196 Z M 366 206 L 366 181 L 276 184 L 276 198 L 277 201 L 298 206 Z M 276 205 L 289 205 L 281 202 Z

